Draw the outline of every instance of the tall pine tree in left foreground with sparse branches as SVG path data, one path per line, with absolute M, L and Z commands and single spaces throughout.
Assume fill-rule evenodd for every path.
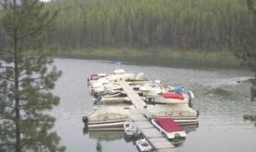
M 0 4 L 0 151 L 64 151 L 47 113 L 59 103 L 50 90 L 61 72 L 45 42 L 55 14 L 39 0 Z

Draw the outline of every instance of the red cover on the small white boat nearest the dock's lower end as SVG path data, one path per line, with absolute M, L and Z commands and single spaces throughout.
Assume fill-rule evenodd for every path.
M 171 118 L 154 118 L 156 124 L 159 125 L 166 132 L 182 131 L 182 128 L 174 122 L 174 119 Z

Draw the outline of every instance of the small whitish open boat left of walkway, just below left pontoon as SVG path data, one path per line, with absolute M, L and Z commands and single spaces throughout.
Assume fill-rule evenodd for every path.
M 142 135 L 142 130 L 139 129 L 137 124 L 132 122 L 132 120 L 128 120 L 124 122 L 124 131 L 125 134 L 129 136 L 141 136 Z

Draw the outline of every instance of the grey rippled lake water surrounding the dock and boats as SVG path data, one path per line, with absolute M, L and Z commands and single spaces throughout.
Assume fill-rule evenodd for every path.
M 53 109 L 55 130 L 68 152 L 137 152 L 132 142 L 124 140 L 124 132 L 83 132 L 82 116 L 93 108 L 86 79 L 92 73 L 112 72 L 110 62 L 82 59 L 55 59 L 63 76 L 53 93 L 61 98 Z M 184 69 L 164 66 L 122 65 L 127 72 L 144 72 L 171 86 L 186 86 L 196 98 L 193 109 L 200 111 L 199 126 L 187 134 L 180 152 L 254 152 L 256 127 L 244 121 L 245 114 L 256 113 L 256 102 L 250 102 L 250 83 L 235 81 L 253 76 L 243 69 Z

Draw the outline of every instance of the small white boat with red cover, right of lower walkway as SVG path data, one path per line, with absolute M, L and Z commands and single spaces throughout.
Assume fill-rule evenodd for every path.
M 151 122 L 170 140 L 186 137 L 186 132 L 174 122 L 174 119 L 154 118 Z

